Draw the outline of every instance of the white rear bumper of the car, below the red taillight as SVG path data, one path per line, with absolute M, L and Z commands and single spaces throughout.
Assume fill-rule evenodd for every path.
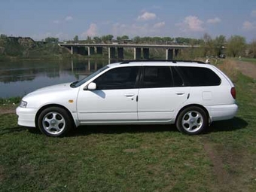
M 235 117 L 238 106 L 236 104 L 232 105 L 213 105 L 206 107 L 209 111 L 209 117 L 211 121 L 216 120 L 228 120 Z

